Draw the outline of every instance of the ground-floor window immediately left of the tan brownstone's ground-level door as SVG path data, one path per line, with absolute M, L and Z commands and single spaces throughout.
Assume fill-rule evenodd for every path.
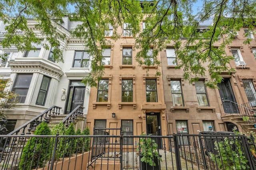
M 133 135 L 133 121 L 132 120 L 122 120 L 122 133 L 124 135 Z M 124 138 L 124 145 L 133 145 L 133 138 Z

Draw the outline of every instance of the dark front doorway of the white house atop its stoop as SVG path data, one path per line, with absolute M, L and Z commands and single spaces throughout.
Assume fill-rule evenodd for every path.
M 69 114 L 78 105 L 84 105 L 85 85 L 81 81 L 70 81 L 65 114 Z

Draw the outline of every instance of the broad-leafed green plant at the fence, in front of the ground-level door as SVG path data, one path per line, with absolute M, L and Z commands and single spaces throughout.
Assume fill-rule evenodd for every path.
M 142 136 L 146 136 L 142 132 Z M 137 151 L 140 151 L 141 161 L 148 163 L 150 166 L 153 166 L 153 160 L 154 158 L 157 158 L 158 161 L 162 162 L 162 158 L 160 157 L 157 148 L 158 145 L 156 141 L 152 138 L 140 138 L 140 144 L 139 148 L 137 148 Z M 156 166 L 156 163 L 154 162 L 154 166 Z

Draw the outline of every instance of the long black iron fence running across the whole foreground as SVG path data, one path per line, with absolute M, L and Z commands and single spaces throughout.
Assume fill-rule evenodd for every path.
M 88 136 L 0 135 L 0 143 L 4 170 L 256 169 L 254 139 L 236 134 L 125 136 L 104 129 Z

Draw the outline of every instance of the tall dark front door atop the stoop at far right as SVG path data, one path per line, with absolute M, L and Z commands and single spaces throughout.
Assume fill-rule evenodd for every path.
M 239 113 L 229 79 L 223 79 L 222 83 L 218 84 L 218 88 L 225 113 Z

